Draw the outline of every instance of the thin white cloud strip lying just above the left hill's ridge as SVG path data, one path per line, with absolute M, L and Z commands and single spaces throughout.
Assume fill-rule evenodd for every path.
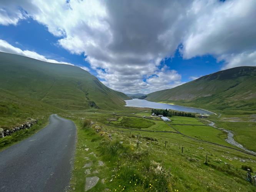
M 5 53 L 13 53 L 13 54 L 17 54 L 17 55 L 23 55 L 23 56 L 27 56 L 30 58 L 34 58 L 37 60 L 46 61 L 46 62 L 50 62 L 50 63 L 62 63 L 62 64 L 67 64 L 67 65 L 73 65 L 72 63 L 68 63 L 68 62 L 47 59 L 47 58 L 45 58 L 45 56 L 40 55 L 34 51 L 21 50 L 20 48 L 12 46 L 7 41 L 1 40 L 1 39 L 0 39 L 0 51 L 5 52 Z

